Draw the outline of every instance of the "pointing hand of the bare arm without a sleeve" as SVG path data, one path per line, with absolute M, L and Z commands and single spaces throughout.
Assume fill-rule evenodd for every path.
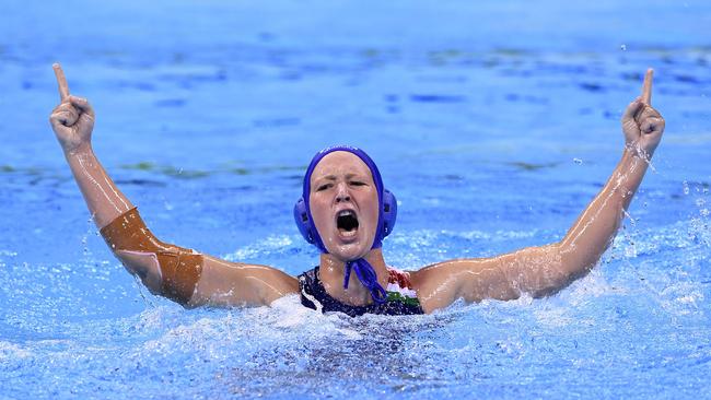
M 664 133 L 664 118 L 652 108 L 652 69 L 644 75 L 642 95 L 630 103 L 622 115 L 625 144 L 644 158 L 650 158 Z

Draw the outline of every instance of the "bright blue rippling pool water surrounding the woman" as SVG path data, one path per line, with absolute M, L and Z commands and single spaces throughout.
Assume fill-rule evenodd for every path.
M 10 1 L 0 16 L 0 398 L 702 398 L 711 365 L 711 3 Z M 319 149 L 398 198 L 400 269 L 559 240 L 656 71 L 665 137 L 599 266 L 429 316 L 185 310 L 90 221 L 47 123 L 51 62 L 162 239 L 299 274 Z

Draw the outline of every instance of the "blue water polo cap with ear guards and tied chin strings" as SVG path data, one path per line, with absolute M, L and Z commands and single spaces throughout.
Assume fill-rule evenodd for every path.
M 349 145 L 326 148 L 316 153 L 316 155 L 311 160 L 306 174 L 304 175 L 302 198 L 299 199 L 294 205 L 294 221 L 296 222 L 296 226 L 299 226 L 299 232 L 301 232 L 301 235 L 306 239 L 306 242 L 316 246 L 322 252 L 328 252 L 320 235 L 318 235 L 316 225 L 313 223 L 311 208 L 308 205 L 308 195 L 311 193 L 311 175 L 314 173 L 318 162 L 320 162 L 326 155 L 338 151 L 357 155 L 363 161 L 363 163 L 365 163 L 365 165 L 368 165 L 368 168 L 373 175 L 373 183 L 375 184 L 375 189 L 377 191 L 380 212 L 377 215 L 375 238 L 373 239 L 373 246 L 371 246 L 371 249 L 380 248 L 383 246 L 383 239 L 393 232 L 393 227 L 395 226 L 397 217 L 397 201 L 395 196 L 383 187 L 381 172 L 377 169 L 373 160 L 361 149 Z M 370 290 L 373 299 L 376 303 L 384 303 L 386 299 L 385 290 L 377 283 L 377 277 L 373 267 L 364 258 L 346 262 L 343 287 L 348 289 L 348 280 L 350 278 L 351 269 L 356 270 L 356 274 L 361 283 Z

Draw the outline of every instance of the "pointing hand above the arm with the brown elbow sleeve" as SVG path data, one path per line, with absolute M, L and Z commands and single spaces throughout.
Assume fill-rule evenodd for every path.
M 65 153 L 74 153 L 91 148 L 91 134 L 94 129 L 94 110 L 85 98 L 69 94 L 65 72 L 58 63 L 53 66 L 61 103 L 49 116 L 51 129 L 59 140 Z

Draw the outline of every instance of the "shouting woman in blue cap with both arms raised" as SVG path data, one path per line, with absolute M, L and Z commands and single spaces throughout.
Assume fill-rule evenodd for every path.
M 54 66 L 61 103 L 49 121 L 94 222 L 126 269 L 154 294 L 183 306 L 259 306 L 300 294 L 304 306 L 350 316 L 429 314 L 458 298 L 513 299 L 553 294 L 585 275 L 613 242 L 662 133 L 651 106 L 652 70 L 642 95 L 622 115 L 622 157 L 607 184 L 562 240 L 491 257 L 455 259 L 403 272 L 389 268 L 381 243 L 397 202 L 375 163 L 360 149 L 334 146 L 312 160 L 294 219 L 322 251 L 318 266 L 294 278 L 267 266 L 230 262 L 160 242 L 108 177 L 91 145 L 94 111 L 69 94 Z M 354 273 L 351 273 L 354 272 Z

